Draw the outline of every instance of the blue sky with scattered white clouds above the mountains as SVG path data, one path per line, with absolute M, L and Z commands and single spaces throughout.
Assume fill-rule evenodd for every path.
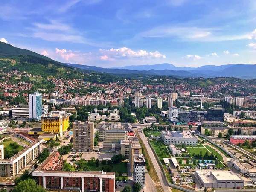
M 255 64 L 256 0 L 1 0 L 0 41 L 105 68 Z

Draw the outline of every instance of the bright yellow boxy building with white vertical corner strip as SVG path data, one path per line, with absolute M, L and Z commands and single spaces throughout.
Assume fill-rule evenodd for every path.
M 42 119 L 42 131 L 44 133 L 59 133 L 62 137 L 68 126 L 69 116 L 65 111 L 52 111 Z

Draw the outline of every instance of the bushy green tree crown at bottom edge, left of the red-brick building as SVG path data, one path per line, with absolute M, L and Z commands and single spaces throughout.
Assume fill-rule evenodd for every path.
M 46 190 L 35 183 L 35 180 L 23 180 L 14 187 L 12 192 L 46 192 Z

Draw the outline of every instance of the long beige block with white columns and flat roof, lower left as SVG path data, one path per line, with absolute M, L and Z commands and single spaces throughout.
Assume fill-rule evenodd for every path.
M 31 145 L 24 148 L 10 159 L 3 159 L 4 151 L 3 145 L 0 146 L 1 160 L 0 160 L 0 176 L 15 177 L 17 174 L 26 168 L 26 166 L 34 161 L 42 152 L 44 140 L 37 140 Z M 36 160 L 35 160 L 36 161 Z

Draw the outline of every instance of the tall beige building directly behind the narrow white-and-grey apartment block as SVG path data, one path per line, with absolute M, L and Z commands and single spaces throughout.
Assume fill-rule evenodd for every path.
M 134 171 L 134 155 L 142 154 L 142 148 L 140 146 L 140 142 L 137 137 L 130 138 L 129 144 L 129 169 L 131 174 Z

